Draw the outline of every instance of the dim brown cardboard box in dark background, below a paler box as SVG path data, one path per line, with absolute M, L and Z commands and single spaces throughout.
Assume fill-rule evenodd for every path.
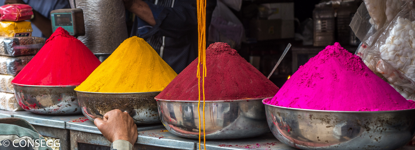
M 294 20 L 253 19 L 250 22 L 249 30 L 251 38 L 256 38 L 256 40 L 294 38 Z

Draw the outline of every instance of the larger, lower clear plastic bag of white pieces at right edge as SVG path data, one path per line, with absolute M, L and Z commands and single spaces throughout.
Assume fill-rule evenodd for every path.
M 415 99 L 415 9 L 412 3 L 401 8 L 389 24 L 371 35 L 372 45 L 362 44 L 356 55 L 405 98 Z

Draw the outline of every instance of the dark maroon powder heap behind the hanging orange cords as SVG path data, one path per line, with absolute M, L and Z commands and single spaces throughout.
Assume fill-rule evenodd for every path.
M 186 67 L 157 99 L 198 100 L 198 59 Z M 226 43 L 206 50 L 205 100 L 241 100 L 272 97 L 278 87 Z M 202 81 L 200 82 L 202 85 Z

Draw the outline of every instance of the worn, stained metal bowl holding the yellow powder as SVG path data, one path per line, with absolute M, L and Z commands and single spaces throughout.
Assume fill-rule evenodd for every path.
M 160 123 L 154 97 L 160 92 L 98 93 L 76 90 L 82 113 L 90 120 L 115 109 L 128 112 L 138 125 Z

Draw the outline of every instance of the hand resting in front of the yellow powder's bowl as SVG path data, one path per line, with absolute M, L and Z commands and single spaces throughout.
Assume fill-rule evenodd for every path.
M 127 112 L 111 110 L 104 114 L 103 119 L 96 118 L 94 124 L 111 143 L 115 140 L 127 140 L 134 145 L 137 140 L 137 125 Z

